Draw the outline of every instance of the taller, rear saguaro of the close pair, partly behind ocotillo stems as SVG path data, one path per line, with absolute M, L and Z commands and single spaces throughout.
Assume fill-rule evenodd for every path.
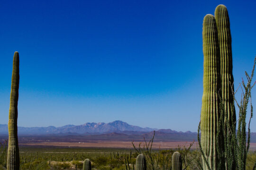
M 235 170 L 235 146 L 236 141 L 232 134 L 236 133 L 236 111 L 234 107 L 234 78 L 232 74 L 232 48 L 231 33 L 229 24 L 229 13 L 224 5 L 218 5 L 215 9 L 216 26 L 218 29 L 219 56 L 220 56 L 220 77 L 221 77 L 221 98 L 222 111 L 224 116 L 224 144 L 225 157 L 227 159 L 226 169 Z

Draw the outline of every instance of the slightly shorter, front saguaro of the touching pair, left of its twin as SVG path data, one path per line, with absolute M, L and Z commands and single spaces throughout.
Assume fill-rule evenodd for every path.
M 201 148 L 205 154 L 203 169 L 216 170 L 219 167 L 217 127 L 220 118 L 219 96 L 219 41 L 216 21 L 213 15 L 203 19 L 203 96 L 201 107 Z M 219 146 L 221 147 L 221 146 Z

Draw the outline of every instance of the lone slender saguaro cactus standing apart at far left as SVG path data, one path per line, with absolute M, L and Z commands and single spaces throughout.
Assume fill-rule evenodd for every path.
M 7 170 L 19 170 L 18 151 L 18 86 L 19 86 L 19 56 L 16 51 L 13 56 L 11 78 L 10 109 L 9 109 L 9 143 L 7 154 Z

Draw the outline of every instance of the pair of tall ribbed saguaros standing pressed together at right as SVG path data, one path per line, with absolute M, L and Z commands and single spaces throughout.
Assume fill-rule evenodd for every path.
M 234 80 L 229 15 L 224 5 L 216 8 L 215 17 L 210 14 L 204 17 L 202 36 L 204 54 L 201 107 L 203 169 L 225 169 L 224 140 L 227 138 L 227 125 L 235 130 L 236 114 L 233 98 Z M 225 115 L 229 120 L 226 123 L 224 123 L 227 121 Z

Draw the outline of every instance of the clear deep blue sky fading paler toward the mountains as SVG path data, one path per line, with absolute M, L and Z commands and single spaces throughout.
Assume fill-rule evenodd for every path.
M 0 124 L 18 51 L 18 126 L 122 120 L 197 131 L 202 20 L 219 4 L 229 10 L 237 87 L 256 55 L 255 0 L 2 0 Z

